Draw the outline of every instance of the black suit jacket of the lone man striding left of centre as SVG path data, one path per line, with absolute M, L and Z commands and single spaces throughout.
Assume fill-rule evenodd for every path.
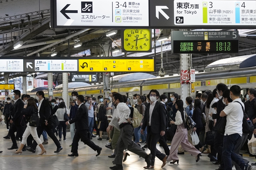
M 74 119 L 71 119 L 69 123 L 75 123 L 75 128 L 77 131 L 89 129 L 88 110 L 84 103 L 78 108 Z

